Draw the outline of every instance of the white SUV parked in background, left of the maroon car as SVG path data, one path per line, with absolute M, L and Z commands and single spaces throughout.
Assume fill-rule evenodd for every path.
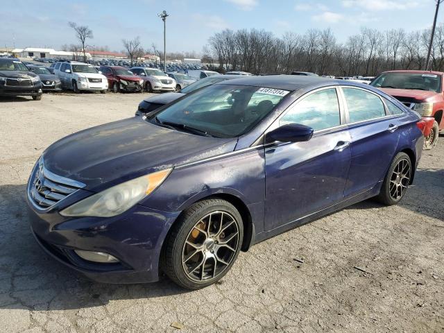
M 60 78 L 62 88 L 80 90 L 99 90 L 102 94 L 108 91 L 108 79 L 85 62 L 60 61 L 54 66 L 54 74 Z

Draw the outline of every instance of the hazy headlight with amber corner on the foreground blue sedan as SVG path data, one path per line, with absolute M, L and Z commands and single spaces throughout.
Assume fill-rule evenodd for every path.
M 167 178 L 171 169 L 122 182 L 74 203 L 60 212 L 63 216 L 111 217 L 129 210 L 151 194 Z

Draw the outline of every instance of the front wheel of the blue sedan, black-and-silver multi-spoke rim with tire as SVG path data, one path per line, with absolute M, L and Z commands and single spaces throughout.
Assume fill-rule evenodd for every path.
M 221 199 L 199 201 L 171 227 L 162 248 L 160 267 L 181 287 L 207 287 L 230 271 L 243 237 L 241 215 L 232 204 Z

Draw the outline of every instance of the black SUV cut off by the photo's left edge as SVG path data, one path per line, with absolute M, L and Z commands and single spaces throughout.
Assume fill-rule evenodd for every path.
M 42 82 L 15 58 L 0 58 L 0 96 L 32 96 L 42 99 Z

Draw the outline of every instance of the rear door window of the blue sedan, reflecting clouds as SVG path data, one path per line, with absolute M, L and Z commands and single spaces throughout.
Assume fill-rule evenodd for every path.
M 363 89 L 342 88 L 350 123 L 384 117 L 384 103 L 378 96 Z

